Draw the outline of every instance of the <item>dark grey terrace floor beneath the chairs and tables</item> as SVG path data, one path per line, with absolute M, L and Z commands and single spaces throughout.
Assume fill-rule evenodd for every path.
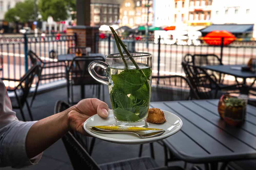
M 105 102 L 111 106 L 108 94 L 108 87 L 104 86 L 105 91 Z M 92 98 L 92 88 L 86 86 L 86 98 Z M 78 101 L 80 99 L 80 86 L 74 86 L 74 99 Z M 50 116 L 54 112 L 55 102 L 57 100 L 67 100 L 66 87 L 57 88 L 55 90 L 47 91 L 36 96 L 33 107 L 31 108 L 34 119 L 40 120 L 47 116 Z M 101 96 L 102 100 L 102 96 Z M 29 98 L 30 101 L 30 98 Z M 21 120 L 19 110 L 15 110 L 18 119 Z M 26 107 L 24 107 L 25 113 Z M 28 114 L 26 115 L 27 120 L 29 120 Z M 154 143 L 155 158 L 159 166 L 164 166 L 164 150 L 162 146 Z M 92 153 L 92 158 L 98 163 L 107 163 L 122 159 L 134 158 L 138 156 L 139 145 L 121 145 L 106 142 L 100 139 L 96 139 L 94 150 Z M 110 156 L 111 155 L 111 156 Z M 149 145 L 145 144 L 143 147 L 143 155 L 150 156 Z M 184 166 L 184 162 L 173 162 L 169 163 L 171 165 Z M 190 169 L 192 165 L 188 164 L 187 169 Z M 0 168 L 0 170 L 13 169 L 10 167 Z M 37 165 L 24 169 L 37 169 L 37 170 L 55 170 L 55 169 L 73 169 L 70 163 L 68 154 L 61 140 L 58 140 L 52 146 L 44 151 L 44 154 Z

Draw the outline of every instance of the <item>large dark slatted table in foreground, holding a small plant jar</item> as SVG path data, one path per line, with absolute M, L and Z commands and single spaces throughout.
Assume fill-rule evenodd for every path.
M 230 161 L 256 159 L 256 107 L 248 105 L 244 124 L 231 127 L 220 119 L 218 101 L 150 103 L 151 107 L 172 112 L 183 121 L 179 132 L 163 140 L 174 155 L 171 158 L 207 166 L 210 163 L 212 169 L 217 169 L 218 162 L 223 162 L 224 169 Z

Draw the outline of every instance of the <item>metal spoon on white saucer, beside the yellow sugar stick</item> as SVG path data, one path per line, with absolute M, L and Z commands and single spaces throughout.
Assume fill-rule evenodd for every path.
M 161 131 L 157 131 L 157 132 L 152 132 L 152 133 L 147 133 L 147 134 L 139 134 L 135 131 L 118 131 L 118 130 L 102 130 L 102 129 L 98 129 L 98 128 L 95 128 L 95 127 L 92 127 L 92 130 L 94 132 L 98 132 L 98 133 L 134 133 L 136 135 L 138 135 L 140 138 L 151 138 L 151 137 L 156 137 L 156 136 L 160 136 L 162 135 L 165 130 L 161 130 Z

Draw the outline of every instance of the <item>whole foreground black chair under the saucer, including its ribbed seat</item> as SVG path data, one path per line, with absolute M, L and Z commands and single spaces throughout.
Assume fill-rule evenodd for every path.
M 63 110 L 68 109 L 70 106 L 64 101 L 57 101 L 55 104 L 54 113 L 59 113 Z M 98 165 L 92 157 L 88 154 L 84 148 L 83 141 L 85 136 L 78 134 L 77 132 L 69 131 L 62 137 L 62 141 L 65 145 L 69 159 L 73 168 L 76 169 L 95 169 L 95 170 L 181 170 L 183 168 L 178 166 L 172 167 L 159 167 L 155 161 L 150 157 L 132 158 L 121 161 L 109 162 Z

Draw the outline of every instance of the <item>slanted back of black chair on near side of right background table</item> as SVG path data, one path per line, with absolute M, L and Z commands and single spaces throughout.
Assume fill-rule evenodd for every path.
M 182 67 L 200 99 L 213 99 L 214 89 L 220 89 L 216 81 L 200 67 L 182 62 Z

